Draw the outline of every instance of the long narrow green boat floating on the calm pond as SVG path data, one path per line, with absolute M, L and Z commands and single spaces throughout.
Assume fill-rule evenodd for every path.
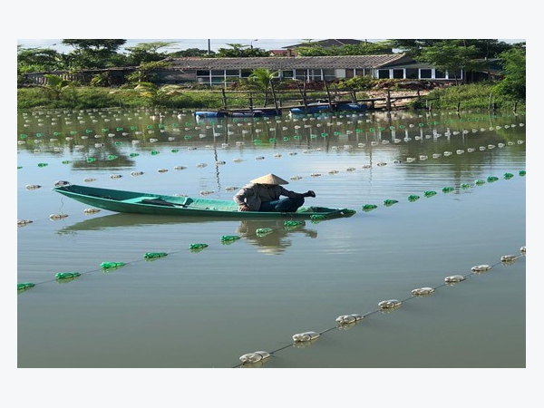
M 136 214 L 229 219 L 331 219 L 351 217 L 355 214 L 353 209 L 306 206 L 299 208 L 296 212 L 238 211 L 238 205 L 234 200 L 167 196 L 76 184 L 55 187 L 53 191 L 98 209 Z

